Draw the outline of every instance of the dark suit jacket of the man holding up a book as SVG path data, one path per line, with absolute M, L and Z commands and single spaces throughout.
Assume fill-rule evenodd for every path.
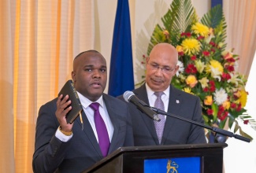
M 133 145 L 131 117 L 128 106 L 117 98 L 103 94 L 103 100 L 113 123 L 113 138 L 109 147 L 112 153 L 121 146 Z M 91 124 L 83 112 L 83 131 L 80 118 L 74 121 L 73 136 L 69 142 L 61 142 L 55 137 L 59 123 L 55 116 L 57 98 L 39 109 L 36 123 L 35 153 L 33 170 L 35 172 L 81 172 L 102 160 Z

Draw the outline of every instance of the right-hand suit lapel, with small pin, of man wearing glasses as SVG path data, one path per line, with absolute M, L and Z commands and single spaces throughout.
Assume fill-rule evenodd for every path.
M 168 112 L 169 113 L 177 112 L 177 110 L 180 109 L 181 104 L 182 104 L 182 100 L 180 98 L 180 95 L 176 94 L 175 88 L 173 88 L 173 86 L 171 85 L 170 94 L 169 94 Z M 176 118 L 173 118 L 171 116 L 166 117 L 165 129 L 164 129 L 163 138 L 162 138 L 163 140 L 161 141 L 161 144 L 165 144 L 166 138 L 168 138 L 168 136 L 172 132 L 173 123 L 175 123 L 175 121 L 176 121 Z

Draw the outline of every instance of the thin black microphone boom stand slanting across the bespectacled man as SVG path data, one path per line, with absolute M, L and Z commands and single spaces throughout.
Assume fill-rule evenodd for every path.
M 198 123 L 196 121 L 186 119 L 182 116 L 176 116 L 173 113 L 165 112 L 165 111 L 162 111 L 161 109 L 157 109 L 157 108 L 154 108 L 154 107 L 150 107 L 150 109 L 153 110 L 154 112 L 158 113 L 158 114 L 162 114 L 162 115 L 165 115 L 165 116 L 172 116 L 176 119 L 184 120 L 184 121 L 187 121 L 188 123 L 193 123 L 193 124 L 196 124 L 197 126 L 200 126 L 200 127 L 205 127 L 206 129 L 209 129 L 210 131 L 215 132 L 215 138 L 216 138 L 217 142 L 219 142 L 218 138 L 220 137 L 218 134 L 222 134 L 222 135 L 228 136 L 228 137 L 234 137 L 234 138 L 239 139 L 239 140 L 244 141 L 244 142 L 250 142 L 250 138 L 246 138 L 246 137 L 240 136 L 238 134 L 233 134 L 231 131 L 225 131 L 225 130 L 217 128 L 217 127 L 210 127 L 210 126 L 207 126 L 203 123 Z

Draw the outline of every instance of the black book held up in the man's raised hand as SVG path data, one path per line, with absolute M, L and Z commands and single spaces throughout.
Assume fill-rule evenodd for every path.
M 67 113 L 66 120 L 67 123 L 73 123 L 76 120 L 77 116 L 80 115 L 80 112 L 83 110 L 80 99 L 77 95 L 76 88 L 72 82 L 72 80 L 68 80 L 65 85 L 61 88 L 58 96 L 63 95 L 65 97 L 67 94 L 69 95 L 69 100 L 71 100 L 72 109 Z

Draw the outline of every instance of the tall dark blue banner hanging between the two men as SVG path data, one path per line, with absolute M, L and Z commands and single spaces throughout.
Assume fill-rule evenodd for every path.
M 118 0 L 109 72 L 109 95 L 134 89 L 132 36 L 128 0 Z

